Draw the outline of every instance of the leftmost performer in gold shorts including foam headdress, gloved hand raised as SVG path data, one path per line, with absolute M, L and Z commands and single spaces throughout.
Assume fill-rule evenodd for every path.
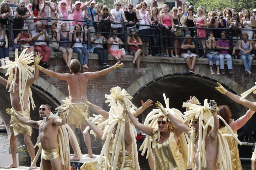
M 32 54 L 33 55 L 33 54 Z M 42 58 L 42 57 L 41 57 Z M 4 86 L 7 86 L 10 88 L 9 92 L 10 92 L 10 97 L 11 97 L 11 105 L 12 105 L 12 111 L 16 112 L 16 115 L 20 115 L 19 117 L 24 116 L 23 118 L 30 120 L 30 106 L 28 105 L 28 97 L 32 97 L 30 96 L 30 86 L 36 81 L 36 79 L 38 78 L 38 64 L 41 60 L 40 55 L 37 55 L 36 53 L 36 58 L 34 57 L 34 64 L 35 64 L 35 72 L 34 72 L 34 76 L 32 76 L 31 78 L 27 79 L 27 84 L 24 87 L 24 91 L 22 89 L 22 93 L 24 93 L 24 107 L 22 108 L 21 104 L 20 104 L 20 89 L 22 88 L 22 83 L 19 83 L 19 80 L 21 80 L 20 82 L 25 81 L 25 79 L 27 77 L 22 77 L 23 75 L 27 75 L 23 72 L 23 70 L 25 70 L 25 66 L 27 66 L 26 64 L 22 63 L 19 61 L 14 61 L 13 63 L 10 62 L 10 60 L 8 62 L 8 65 L 11 64 L 20 64 L 20 67 L 24 67 L 23 69 L 21 68 L 22 71 L 20 71 L 18 68 L 16 68 L 16 75 L 19 75 L 19 72 L 21 72 L 21 77 L 16 78 L 15 77 L 15 67 L 11 70 L 11 72 L 9 73 L 9 78 L 16 78 L 15 81 L 11 81 L 9 83 L 8 80 L 4 79 L 3 77 L 0 76 L 0 83 Z M 33 61 L 32 61 L 33 62 Z M 7 66 L 5 66 L 6 68 Z M 11 77 L 12 76 L 12 77 Z M 22 79 L 21 79 L 22 78 Z M 13 89 L 14 88 L 14 89 Z M 13 91 L 14 90 L 14 91 Z M 22 95 L 21 93 L 21 95 Z M 31 103 L 33 106 L 33 99 L 31 98 Z M 23 125 L 20 123 L 20 121 L 14 117 L 11 116 L 11 122 L 10 122 L 10 149 L 11 149 L 11 154 L 12 154 L 12 158 L 13 158 L 13 163 L 11 165 L 9 165 L 8 167 L 6 167 L 5 169 L 9 169 L 9 168 L 16 168 L 17 167 L 17 160 L 16 160 L 16 153 L 17 153 L 17 147 L 16 147 L 16 136 L 18 134 L 22 133 L 24 136 L 24 141 L 27 145 L 27 149 L 28 149 L 28 153 L 31 157 L 31 160 L 33 160 L 35 158 L 35 149 L 34 149 L 34 145 L 31 142 L 30 136 L 32 135 L 32 128 L 27 126 L 27 125 Z M 36 166 L 30 166 L 29 169 L 36 169 Z

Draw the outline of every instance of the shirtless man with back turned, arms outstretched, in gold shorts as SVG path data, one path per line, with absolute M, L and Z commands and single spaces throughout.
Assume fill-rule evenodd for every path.
M 83 132 L 86 128 L 86 122 L 83 119 L 83 117 L 77 112 L 77 109 L 81 109 L 84 113 L 86 110 L 88 110 L 88 116 L 89 114 L 89 107 L 83 103 L 83 100 L 81 99 L 81 96 L 84 96 L 87 99 L 86 91 L 87 91 L 87 82 L 89 79 L 93 79 L 96 77 L 99 77 L 101 75 L 107 74 L 111 71 L 113 71 L 116 68 L 122 67 L 124 64 L 116 63 L 114 66 L 104 69 L 100 72 L 86 72 L 86 73 L 79 73 L 81 70 L 81 64 L 77 59 L 72 59 L 70 62 L 70 70 L 72 74 L 60 74 L 55 73 L 53 71 L 44 69 L 42 67 L 39 67 L 39 70 L 41 70 L 43 73 L 50 75 L 52 77 L 56 77 L 60 80 L 66 80 L 69 85 L 69 96 L 71 104 L 69 106 L 69 110 L 67 112 L 67 121 L 68 125 L 71 127 L 73 132 L 75 132 L 75 128 L 78 128 L 80 126 L 81 131 Z M 88 155 L 87 157 L 93 158 L 95 157 L 92 153 L 92 147 L 91 147 L 91 137 L 89 133 L 83 134 L 85 144 L 88 149 Z M 71 160 L 79 160 L 77 150 L 75 149 L 74 141 L 70 135 L 70 142 L 74 151 L 74 156 L 71 158 Z

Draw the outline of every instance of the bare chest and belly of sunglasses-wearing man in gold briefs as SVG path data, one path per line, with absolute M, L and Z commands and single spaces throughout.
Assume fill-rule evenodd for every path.
M 43 150 L 51 150 L 59 147 L 57 142 L 59 126 L 53 123 L 54 119 L 57 119 L 57 117 L 52 117 L 46 120 L 46 122 L 41 121 L 38 123 L 40 124 L 38 130 L 39 132 L 41 131 L 40 142 Z

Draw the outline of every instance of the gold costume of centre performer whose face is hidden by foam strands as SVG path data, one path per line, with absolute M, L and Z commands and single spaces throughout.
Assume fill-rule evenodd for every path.
M 107 163 L 107 169 L 111 170 L 111 157 L 112 157 L 112 152 L 113 152 L 113 145 L 114 145 L 114 140 L 112 139 L 111 142 L 109 143 L 109 151 L 108 151 L 108 163 Z M 103 170 L 104 165 L 105 165 L 105 158 L 102 158 L 101 164 L 98 165 L 98 160 L 95 161 L 90 161 L 84 163 L 81 167 L 80 170 Z M 118 155 L 118 161 L 116 165 L 116 170 L 120 170 L 123 162 L 123 145 L 121 144 L 121 148 L 119 150 L 119 155 Z M 134 170 L 133 164 L 132 164 L 132 154 L 128 153 L 125 151 L 125 164 L 123 170 Z

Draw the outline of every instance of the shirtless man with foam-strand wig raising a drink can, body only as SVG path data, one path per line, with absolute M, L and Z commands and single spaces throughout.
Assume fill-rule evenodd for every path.
M 205 139 L 205 152 L 206 152 L 206 162 L 207 162 L 207 167 L 201 167 L 201 170 L 217 170 L 217 154 L 218 154 L 218 130 L 219 130 L 219 120 L 216 114 L 216 102 L 214 102 L 213 109 L 214 111 L 212 112 L 213 115 L 213 127 L 210 130 L 210 132 L 207 134 L 206 139 Z M 184 122 L 181 120 L 177 119 L 176 117 L 172 116 L 171 114 L 167 113 L 167 111 L 164 109 L 163 105 L 159 102 L 156 103 L 156 108 L 161 109 L 162 113 L 166 115 L 166 117 L 177 127 L 182 129 L 184 133 L 186 133 L 188 136 L 190 136 L 191 128 L 188 127 Z M 194 133 L 197 134 L 198 136 L 198 131 L 199 131 L 199 119 L 194 119 L 192 126 L 194 128 Z M 195 153 L 194 153 L 194 164 L 195 164 L 195 170 L 199 169 L 199 152 L 197 152 L 198 145 L 201 145 L 201 143 L 198 143 L 198 137 L 195 139 Z M 200 165 L 202 166 L 202 165 Z

